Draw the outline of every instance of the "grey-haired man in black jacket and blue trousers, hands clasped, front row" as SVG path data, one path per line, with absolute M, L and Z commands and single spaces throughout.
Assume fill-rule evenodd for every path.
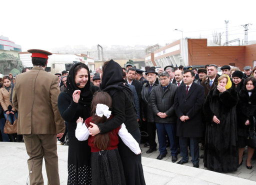
M 160 154 L 157 159 L 161 160 L 166 156 L 167 133 L 170 140 L 171 161 L 177 160 L 177 140 L 176 140 L 176 115 L 174 110 L 174 96 L 177 86 L 170 82 L 167 71 L 160 73 L 160 83 L 154 88 L 151 96 L 151 106 L 153 110 Z

